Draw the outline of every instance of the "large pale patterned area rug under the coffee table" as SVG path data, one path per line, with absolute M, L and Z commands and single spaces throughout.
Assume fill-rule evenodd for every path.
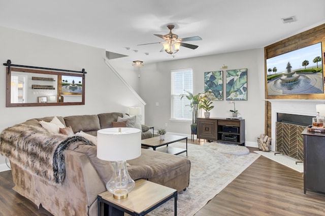
M 187 158 L 191 161 L 190 182 L 186 191 L 178 193 L 177 215 L 194 215 L 260 156 L 255 153 L 222 154 L 209 148 L 209 145 L 211 143 L 205 143 L 203 146 L 188 144 Z M 170 146 L 185 148 L 185 143 L 175 142 Z M 186 157 L 186 153 L 180 154 L 179 157 Z M 174 215 L 174 199 L 148 215 Z

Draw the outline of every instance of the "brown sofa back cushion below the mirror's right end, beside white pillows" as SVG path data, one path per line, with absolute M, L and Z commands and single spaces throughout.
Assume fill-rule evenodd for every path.
M 64 117 L 67 127 L 71 126 L 74 133 L 79 131 L 97 131 L 101 129 L 100 120 L 97 115 L 81 115 Z

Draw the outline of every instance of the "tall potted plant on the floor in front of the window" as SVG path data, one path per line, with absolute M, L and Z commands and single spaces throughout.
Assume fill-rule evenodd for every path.
M 192 111 L 191 133 L 197 134 L 197 118 L 199 115 L 199 104 L 204 96 L 202 96 L 202 92 L 196 95 L 193 95 L 189 91 L 186 92 L 187 94 L 181 94 L 181 99 L 185 96 L 189 100 L 188 106 L 191 107 L 191 111 Z

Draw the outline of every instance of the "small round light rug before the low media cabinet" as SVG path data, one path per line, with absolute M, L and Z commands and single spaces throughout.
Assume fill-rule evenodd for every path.
M 230 154 L 230 155 L 248 155 L 249 149 L 244 146 L 238 146 L 237 144 L 231 143 L 220 143 L 220 142 L 210 142 L 205 143 L 210 149 L 216 150 L 219 153 Z

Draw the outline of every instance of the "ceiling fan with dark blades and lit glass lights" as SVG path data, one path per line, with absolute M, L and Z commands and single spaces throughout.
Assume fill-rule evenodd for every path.
M 169 28 L 169 33 L 162 35 L 162 34 L 154 34 L 157 37 L 164 39 L 165 42 L 157 42 L 157 43 L 149 43 L 149 44 L 163 44 L 164 48 L 160 50 L 160 52 L 166 51 L 169 54 L 174 54 L 177 53 L 179 51 L 179 47 L 187 47 L 190 49 L 197 49 L 199 46 L 197 45 L 192 45 L 192 44 L 186 44 L 183 42 L 187 42 L 187 41 L 201 41 L 202 38 L 199 36 L 194 36 L 194 37 L 188 37 L 188 38 L 182 38 L 182 39 L 178 39 L 178 35 L 174 34 L 172 32 L 172 29 L 174 29 L 174 25 L 167 25 L 167 27 Z M 148 44 L 139 44 L 140 45 L 148 45 Z

